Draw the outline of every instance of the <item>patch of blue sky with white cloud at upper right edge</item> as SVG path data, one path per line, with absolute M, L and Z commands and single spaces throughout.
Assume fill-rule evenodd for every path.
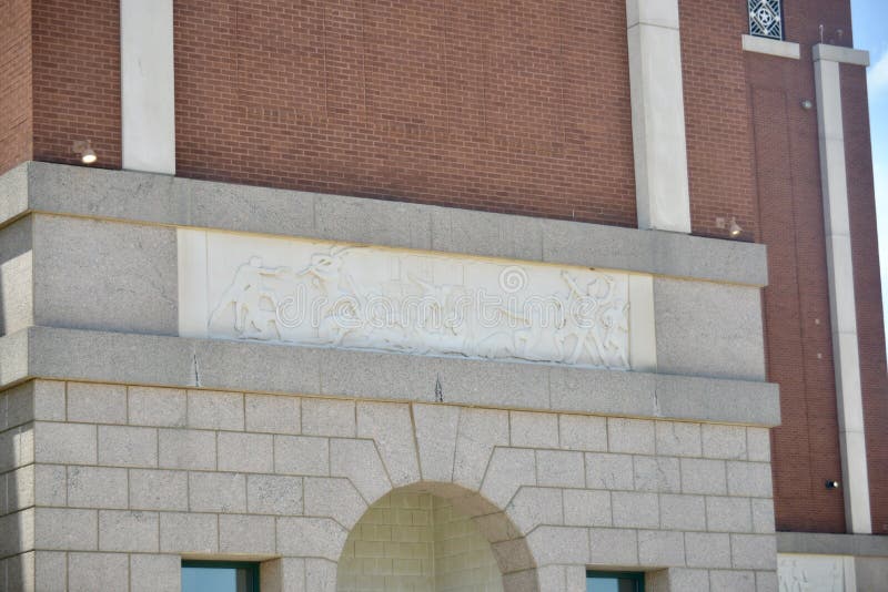
M 851 0 L 854 45 L 869 50 L 869 124 L 879 225 L 882 299 L 888 295 L 888 0 Z M 888 307 L 886 307 L 888 320 Z

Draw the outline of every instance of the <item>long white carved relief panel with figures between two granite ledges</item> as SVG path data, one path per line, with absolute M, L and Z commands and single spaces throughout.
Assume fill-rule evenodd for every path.
M 179 261 L 183 336 L 613 369 L 654 343 L 626 273 L 193 229 Z

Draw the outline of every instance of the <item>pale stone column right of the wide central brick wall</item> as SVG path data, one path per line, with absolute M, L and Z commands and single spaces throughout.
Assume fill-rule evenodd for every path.
M 690 232 L 678 0 L 626 0 L 638 227 Z

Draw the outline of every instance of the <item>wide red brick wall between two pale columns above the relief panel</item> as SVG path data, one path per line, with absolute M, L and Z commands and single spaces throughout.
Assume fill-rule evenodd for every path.
M 624 2 L 174 10 L 180 175 L 636 224 Z

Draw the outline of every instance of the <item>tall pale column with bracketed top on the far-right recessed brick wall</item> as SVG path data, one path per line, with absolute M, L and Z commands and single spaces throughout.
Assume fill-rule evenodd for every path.
M 814 47 L 820 184 L 824 194 L 845 521 L 849 532 L 871 533 L 851 231 L 848 216 L 848 180 L 845 167 L 845 132 L 841 121 L 840 63 L 865 67 L 869 63 L 869 54 L 825 44 Z

